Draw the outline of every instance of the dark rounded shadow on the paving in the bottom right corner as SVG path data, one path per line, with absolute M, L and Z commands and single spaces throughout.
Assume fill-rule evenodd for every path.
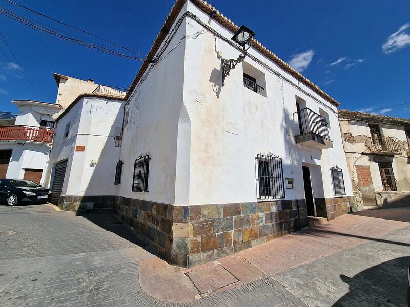
M 410 257 L 400 257 L 353 277 L 340 275 L 340 279 L 349 285 L 349 292 L 333 306 L 351 306 L 353 302 L 363 302 L 366 306 L 410 306 L 409 264 Z

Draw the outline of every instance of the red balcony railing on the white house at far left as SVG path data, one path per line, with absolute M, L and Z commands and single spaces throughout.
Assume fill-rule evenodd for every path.
M 51 143 L 54 129 L 31 126 L 0 127 L 0 141 L 26 140 L 32 142 Z

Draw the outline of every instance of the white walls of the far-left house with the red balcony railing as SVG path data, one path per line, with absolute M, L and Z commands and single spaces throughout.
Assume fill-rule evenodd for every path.
M 15 126 L 39 128 L 42 120 L 54 122 L 52 116 L 61 109 L 59 105 L 38 101 L 15 100 L 13 103 L 18 107 Z M 40 184 L 44 185 L 51 148 L 51 143 L 0 140 L 0 150 L 12 150 L 6 177 L 23 178 L 26 169 L 43 170 Z

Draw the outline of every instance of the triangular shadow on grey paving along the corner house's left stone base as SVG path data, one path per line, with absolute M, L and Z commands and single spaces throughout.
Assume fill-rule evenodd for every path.
M 149 246 L 146 242 L 144 242 L 144 240 L 139 238 L 137 234 L 135 234 L 122 221 L 118 220 L 118 218 L 111 212 L 84 212 L 77 213 L 76 216 L 87 218 L 87 220 L 94 223 L 95 225 L 112 233 L 115 233 L 121 238 L 124 238 L 135 245 L 138 245 L 139 247 L 145 249 L 147 252 L 155 256 L 159 256 L 151 246 Z

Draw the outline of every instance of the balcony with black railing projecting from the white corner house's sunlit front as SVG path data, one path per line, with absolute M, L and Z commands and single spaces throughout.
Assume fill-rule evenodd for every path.
M 296 144 L 318 149 L 333 148 L 326 118 L 307 107 L 295 113 L 299 120 L 299 135 L 295 136 Z

